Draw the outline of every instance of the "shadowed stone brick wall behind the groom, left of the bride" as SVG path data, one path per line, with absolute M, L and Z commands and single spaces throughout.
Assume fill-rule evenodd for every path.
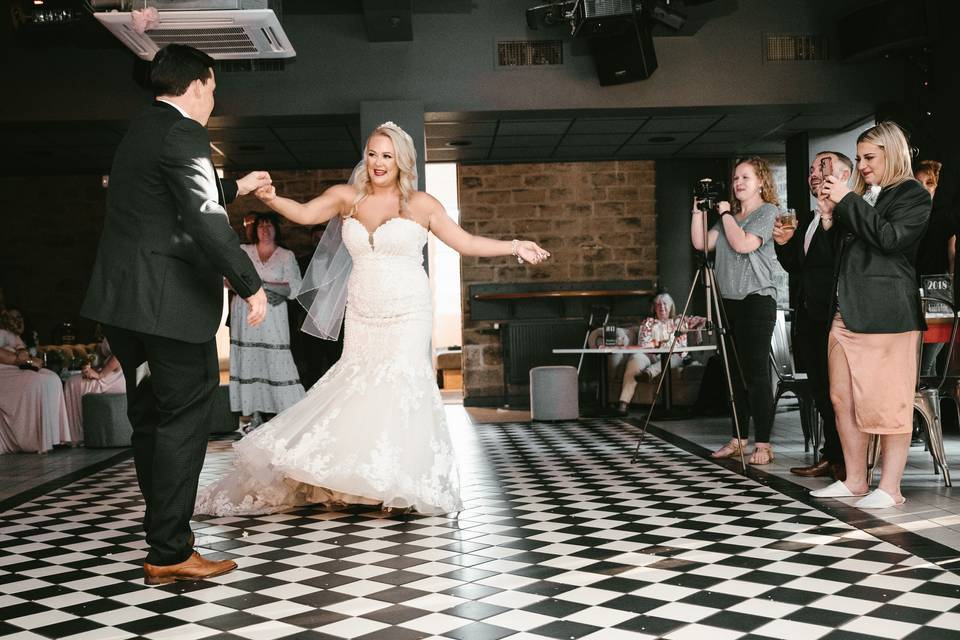
M 332 184 L 345 182 L 349 169 L 273 172 L 280 194 L 307 200 Z M 4 250 L 0 286 L 8 304 L 23 310 L 49 342 L 56 325 L 70 320 L 84 340 L 92 323 L 79 317 L 97 242 L 103 228 L 106 190 L 99 175 L 29 176 L 0 179 Z M 266 207 L 253 196 L 230 207 L 230 221 L 242 234 L 243 216 Z M 312 250 L 310 231 L 282 225 L 284 243 L 295 253 Z M 241 235 L 242 237 L 242 235 Z

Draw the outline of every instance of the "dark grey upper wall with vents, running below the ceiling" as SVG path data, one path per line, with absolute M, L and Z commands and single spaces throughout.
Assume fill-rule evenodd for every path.
M 853 0 L 739 0 L 692 37 L 655 38 L 659 68 L 600 87 L 565 28 L 528 31 L 532 0 L 477 0 L 468 13 L 414 14 L 414 41 L 369 43 L 359 14 L 288 15 L 298 57 L 282 72 L 223 73 L 223 115 L 357 113 L 362 100 L 414 100 L 427 111 L 635 108 L 900 100 L 898 60 L 764 63 L 764 33 L 832 34 Z M 564 64 L 498 69 L 498 40 L 557 38 Z M 576 46 L 575 46 L 576 44 Z M 12 49 L 0 123 L 125 119 L 147 98 L 126 50 Z M 886 80 L 886 81 L 885 81 Z

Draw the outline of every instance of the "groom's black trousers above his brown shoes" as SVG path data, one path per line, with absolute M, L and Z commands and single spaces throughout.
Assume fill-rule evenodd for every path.
M 183 562 L 193 552 L 190 517 L 220 384 L 216 341 L 194 344 L 111 326 L 104 333 L 127 383 L 137 481 L 146 503 L 146 561 Z M 143 362 L 150 375 L 137 385 Z

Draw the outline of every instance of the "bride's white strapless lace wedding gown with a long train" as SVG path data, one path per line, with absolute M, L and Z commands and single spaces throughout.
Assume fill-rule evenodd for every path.
M 343 356 L 306 397 L 234 447 L 196 513 L 274 513 L 311 503 L 461 509 L 460 480 L 430 360 L 427 231 L 391 218 L 343 224 L 353 258 Z

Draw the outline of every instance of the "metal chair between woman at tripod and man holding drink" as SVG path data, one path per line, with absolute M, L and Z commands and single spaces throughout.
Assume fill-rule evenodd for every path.
M 777 404 L 785 393 L 792 393 L 800 403 L 800 427 L 803 429 L 803 450 L 810 451 L 813 441 L 813 461 L 816 463 L 820 456 L 820 442 L 823 440 L 823 424 L 817 403 L 814 399 L 813 387 L 807 374 L 798 373 L 793 362 L 790 329 L 787 326 L 787 314 L 790 309 L 777 309 L 777 323 L 773 327 L 773 338 L 770 340 L 770 364 L 777 376 L 777 389 L 773 395 L 773 411 L 776 413 Z

